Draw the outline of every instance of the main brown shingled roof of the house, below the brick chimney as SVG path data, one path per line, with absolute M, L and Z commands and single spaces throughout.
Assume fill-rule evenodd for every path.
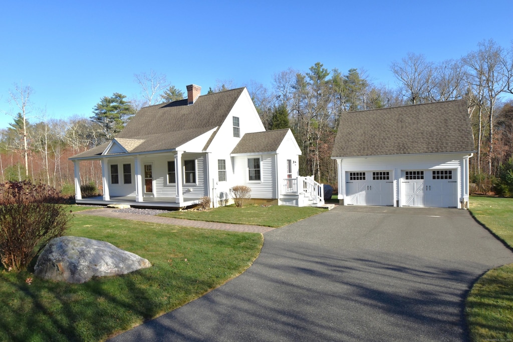
M 221 126 L 243 91 L 244 88 L 238 88 L 201 95 L 193 105 L 187 105 L 187 99 L 183 99 L 144 107 L 117 135 L 116 140 L 123 146 L 129 145 L 129 152 L 132 153 L 175 149 Z M 205 149 L 215 134 L 216 131 Z M 108 145 L 94 147 L 72 159 L 100 155 Z

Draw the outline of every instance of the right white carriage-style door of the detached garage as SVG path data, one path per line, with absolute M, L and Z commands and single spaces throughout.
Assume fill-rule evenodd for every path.
M 404 207 L 458 207 L 457 170 L 403 171 Z

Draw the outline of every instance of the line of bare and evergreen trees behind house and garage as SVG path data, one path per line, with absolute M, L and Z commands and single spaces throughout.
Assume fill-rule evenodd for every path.
M 408 53 L 392 62 L 390 70 L 398 87 L 374 84 L 362 70 L 328 70 L 320 62 L 306 72 L 287 69 L 274 74 L 270 89 L 255 82 L 246 87 L 266 129 L 293 131 L 303 153 L 300 174 L 331 185 L 337 184 L 331 150 L 344 112 L 464 98 L 477 151 L 470 159 L 472 182 L 481 192 L 491 191 L 495 184 L 507 193 L 501 182 L 509 177 L 513 184 L 513 100 L 503 98 L 513 94 L 513 46 L 503 48 L 490 39 L 460 59 L 440 63 Z M 17 113 L 10 127 L 0 130 L 0 179 L 41 179 L 69 190 L 73 165 L 68 157 L 113 138 L 140 108 L 184 98 L 163 74 L 151 71 L 134 77 L 142 98 L 104 96 L 89 118 L 49 120 L 31 115 L 33 90 L 16 86 L 9 96 Z M 218 82 L 208 93 L 231 88 L 232 81 Z M 99 163 L 88 163 L 87 170 L 81 167 L 83 182 L 100 186 Z

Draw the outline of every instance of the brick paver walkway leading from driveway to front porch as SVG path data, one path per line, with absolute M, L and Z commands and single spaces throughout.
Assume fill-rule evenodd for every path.
M 235 232 L 249 232 L 249 233 L 262 233 L 263 234 L 265 232 L 274 230 L 274 228 L 271 228 L 271 227 L 234 225 L 234 224 L 229 224 L 229 223 L 194 221 L 194 220 L 190 220 L 190 219 L 181 219 L 181 218 L 172 218 L 172 217 L 128 214 L 128 213 L 123 213 L 123 212 L 115 212 L 115 210 L 117 210 L 117 209 L 115 209 L 115 208 L 91 209 L 91 210 L 77 211 L 74 214 L 131 219 L 131 220 L 135 220 L 135 221 L 160 223 L 160 224 L 166 224 L 166 225 L 187 226 L 187 227 L 197 227 L 197 228 L 206 228 L 206 229 L 231 230 L 231 231 L 235 231 Z

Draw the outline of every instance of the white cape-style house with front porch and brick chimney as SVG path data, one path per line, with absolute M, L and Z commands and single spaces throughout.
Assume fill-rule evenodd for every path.
M 215 207 L 245 185 L 257 204 L 324 204 L 322 185 L 299 176 L 292 132 L 265 131 L 246 88 L 200 92 L 142 108 L 109 143 L 71 157 L 76 203 L 186 207 L 208 196 Z M 82 198 L 83 160 L 101 160 L 103 196 Z

